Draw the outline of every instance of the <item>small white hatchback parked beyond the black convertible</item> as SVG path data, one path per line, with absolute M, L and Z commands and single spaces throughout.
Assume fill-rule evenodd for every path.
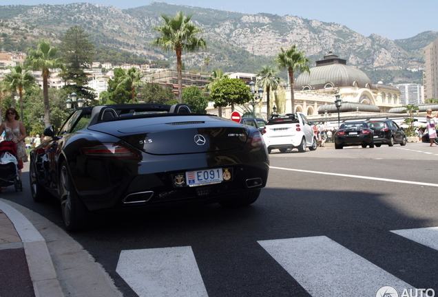
M 311 124 L 302 113 L 271 115 L 263 135 L 268 152 L 276 148 L 282 153 L 288 148 L 298 148 L 300 152 L 305 152 L 306 148 L 315 151 L 317 138 Z

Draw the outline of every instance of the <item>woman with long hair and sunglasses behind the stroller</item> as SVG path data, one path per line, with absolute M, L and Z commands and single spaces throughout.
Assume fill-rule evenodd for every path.
M 5 140 L 10 140 L 17 144 L 17 161 L 19 168 L 19 177 L 21 177 L 21 169 L 23 169 L 23 162 L 28 162 L 28 155 L 24 141 L 26 137 L 26 130 L 23 122 L 20 122 L 20 116 L 16 109 L 10 107 L 6 109 L 6 121 L 0 125 L 0 134 L 5 132 Z

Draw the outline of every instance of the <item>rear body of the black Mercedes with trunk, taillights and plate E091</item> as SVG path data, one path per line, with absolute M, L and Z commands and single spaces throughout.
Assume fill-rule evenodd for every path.
M 88 210 L 243 206 L 258 198 L 269 173 L 258 129 L 209 115 L 101 122 L 67 137 L 63 151 Z

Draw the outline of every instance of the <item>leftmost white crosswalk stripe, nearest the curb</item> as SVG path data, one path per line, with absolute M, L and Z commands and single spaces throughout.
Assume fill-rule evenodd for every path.
M 123 250 L 116 272 L 140 297 L 206 297 L 190 247 Z

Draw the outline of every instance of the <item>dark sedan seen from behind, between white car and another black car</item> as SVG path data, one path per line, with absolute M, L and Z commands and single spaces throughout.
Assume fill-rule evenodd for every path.
M 346 122 L 335 132 L 335 148 L 361 145 L 374 147 L 373 130 L 366 122 Z

